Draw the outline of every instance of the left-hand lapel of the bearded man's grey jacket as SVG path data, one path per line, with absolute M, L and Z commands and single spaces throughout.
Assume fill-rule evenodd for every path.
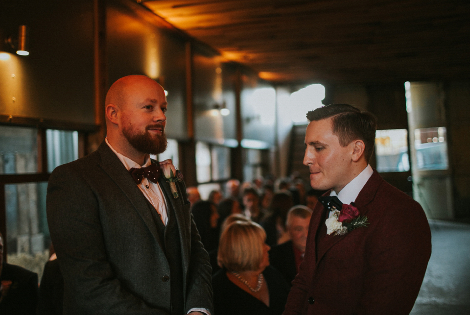
M 150 233 L 154 236 L 155 240 L 163 248 L 162 241 L 158 237 L 157 227 L 149 212 L 149 206 L 145 196 L 142 194 L 139 187 L 135 184 L 131 174 L 127 171 L 125 166 L 114 154 L 106 142 L 102 142 L 98 148 L 101 155 L 101 167 L 110 176 L 110 178 L 118 185 L 124 195 L 129 199 L 135 210 L 140 214 L 142 220 L 149 228 Z

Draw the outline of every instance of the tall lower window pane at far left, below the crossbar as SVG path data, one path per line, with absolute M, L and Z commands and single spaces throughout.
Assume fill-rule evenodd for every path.
M 49 259 L 47 182 L 5 185 L 7 260 L 38 273 Z

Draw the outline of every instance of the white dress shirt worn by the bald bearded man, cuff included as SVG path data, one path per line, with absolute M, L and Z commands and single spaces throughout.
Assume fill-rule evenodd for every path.
M 105 141 L 106 144 L 110 147 L 110 149 L 114 152 L 114 154 L 118 156 L 119 160 L 122 162 L 122 164 L 124 164 L 127 170 L 130 170 L 131 168 L 147 167 L 152 164 L 149 155 L 145 157 L 144 165 L 139 165 L 133 160 L 131 160 L 129 157 L 125 157 L 121 153 L 118 153 L 116 150 L 114 150 L 114 148 L 110 145 L 110 142 L 108 142 L 108 138 L 105 138 Z M 157 210 L 158 214 L 160 215 L 160 218 L 162 219 L 163 224 L 166 226 L 166 224 L 168 223 L 168 213 L 166 211 L 167 205 L 166 199 L 163 195 L 163 191 L 160 188 L 160 185 L 149 181 L 147 177 L 144 176 L 141 183 L 137 186 L 139 187 L 139 189 L 141 189 L 141 192 L 144 194 L 147 200 L 149 200 L 149 202 Z M 191 308 L 188 311 L 188 314 L 196 311 L 211 315 L 210 311 L 205 308 Z

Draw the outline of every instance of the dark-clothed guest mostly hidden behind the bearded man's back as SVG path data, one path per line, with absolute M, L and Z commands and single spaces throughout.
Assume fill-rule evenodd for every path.
M 54 246 L 49 248 L 49 261 L 44 267 L 44 272 L 39 285 L 38 315 L 62 315 L 63 314 L 63 277 L 60 272 L 59 262 L 55 255 Z

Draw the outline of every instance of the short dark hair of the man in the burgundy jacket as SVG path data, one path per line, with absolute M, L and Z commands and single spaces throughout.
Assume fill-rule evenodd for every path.
M 349 104 L 330 104 L 307 113 L 309 121 L 327 118 L 331 118 L 333 133 L 338 136 L 339 144 L 343 147 L 357 139 L 364 142 L 364 157 L 369 162 L 376 142 L 376 117 Z

